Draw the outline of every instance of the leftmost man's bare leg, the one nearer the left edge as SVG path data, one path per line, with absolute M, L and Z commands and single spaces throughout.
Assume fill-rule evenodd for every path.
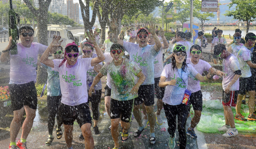
M 13 111 L 13 119 L 12 119 L 12 123 L 10 125 L 11 142 L 16 141 L 16 137 L 20 131 L 20 124 L 22 121 L 23 113 L 24 113 L 24 107 L 22 107 L 19 110 Z

